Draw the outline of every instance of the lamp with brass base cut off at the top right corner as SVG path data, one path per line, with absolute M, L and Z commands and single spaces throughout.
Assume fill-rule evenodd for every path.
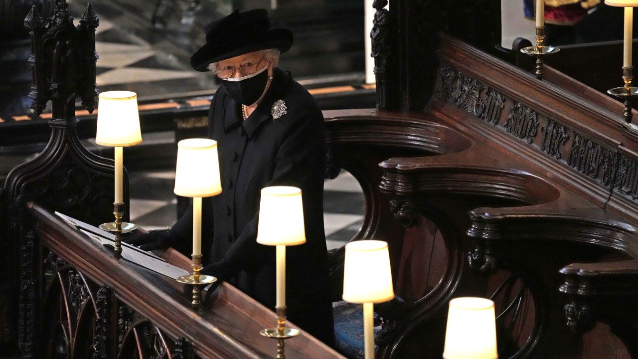
M 623 25 L 623 82 L 625 82 L 625 86 L 609 89 L 607 93 L 625 101 L 623 117 L 625 118 L 625 122 L 630 124 L 632 122 L 630 100 L 638 96 L 638 88 L 632 87 L 632 80 L 634 79 L 634 66 L 632 66 L 634 7 L 638 6 L 638 0 L 605 0 L 605 4 L 625 8 L 625 20 Z

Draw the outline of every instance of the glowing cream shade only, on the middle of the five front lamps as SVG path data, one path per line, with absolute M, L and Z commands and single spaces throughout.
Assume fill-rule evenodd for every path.
M 262 188 L 257 243 L 300 245 L 306 243 L 304 228 L 304 207 L 299 188 L 288 186 Z

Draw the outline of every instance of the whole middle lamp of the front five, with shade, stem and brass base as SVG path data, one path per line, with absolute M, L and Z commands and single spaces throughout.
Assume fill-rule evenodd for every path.
M 263 329 L 260 334 L 277 339 L 277 358 L 285 358 L 283 340 L 299 335 L 299 330 L 285 326 L 286 246 L 306 243 L 304 208 L 299 188 L 288 186 L 262 188 L 257 243 L 276 246 L 277 327 Z

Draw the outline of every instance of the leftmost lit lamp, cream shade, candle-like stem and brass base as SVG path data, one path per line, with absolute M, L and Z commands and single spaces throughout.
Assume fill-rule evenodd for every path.
M 98 96 L 98 128 L 95 142 L 115 149 L 115 222 L 101 224 L 100 228 L 115 233 L 115 254 L 122 253 L 121 234 L 133 231 L 137 225 L 122 223 L 124 200 L 122 188 L 122 147 L 142 142 L 137 94 L 131 91 L 107 91 Z

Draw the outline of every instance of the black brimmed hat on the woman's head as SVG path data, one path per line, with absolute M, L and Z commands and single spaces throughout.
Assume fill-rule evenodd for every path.
M 208 71 L 211 63 L 248 52 L 264 49 L 288 51 L 292 46 L 292 31 L 270 27 L 271 21 L 265 9 L 235 10 L 204 27 L 206 44 L 191 56 L 191 66 L 197 71 Z

